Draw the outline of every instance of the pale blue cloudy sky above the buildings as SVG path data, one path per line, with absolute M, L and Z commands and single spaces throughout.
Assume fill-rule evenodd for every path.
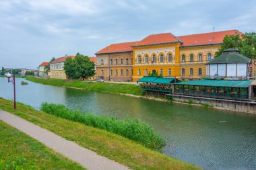
M 255 0 L 0 0 L 0 67 L 36 69 L 52 57 L 94 56 L 150 34 L 256 32 Z

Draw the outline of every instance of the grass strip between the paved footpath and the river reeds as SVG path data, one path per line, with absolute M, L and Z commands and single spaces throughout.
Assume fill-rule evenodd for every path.
M 21 103 L 18 103 L 18 110 L 13 110 L 12 104 L 11 101 L 0 98 L 2 110 L 20 116 L 131 169 L 199 169 L 106 130 L 46 114 Z

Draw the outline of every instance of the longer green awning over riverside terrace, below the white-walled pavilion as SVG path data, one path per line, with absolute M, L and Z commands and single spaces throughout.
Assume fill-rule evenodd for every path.
M 197 85 L 197 86 L 214 86 L 214 87 L 241 87 L 247 88 L 253 80 L 198 80 L 198 81 L 184 81 L 181 83 L 174 83 L 175 85 Z

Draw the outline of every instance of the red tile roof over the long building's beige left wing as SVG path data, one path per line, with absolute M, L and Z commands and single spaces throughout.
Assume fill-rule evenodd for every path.
M 131 48 L 131 46 L 133 46 L 135 43 L 136 42 L 123 42 L 119 44 L 111 44 L 110 46 L 99 50 L 98 52 L 96 52 L 96 54 L 132 51 L 133 49 Z

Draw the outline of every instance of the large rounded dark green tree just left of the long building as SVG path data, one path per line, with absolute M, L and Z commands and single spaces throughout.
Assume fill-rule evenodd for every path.
M 86 79 L 95 74 L 95 64 L 88 56 L 77 53 L 75 58 L 67 58 L 64 62 L 64 70 L 72 79 Z

